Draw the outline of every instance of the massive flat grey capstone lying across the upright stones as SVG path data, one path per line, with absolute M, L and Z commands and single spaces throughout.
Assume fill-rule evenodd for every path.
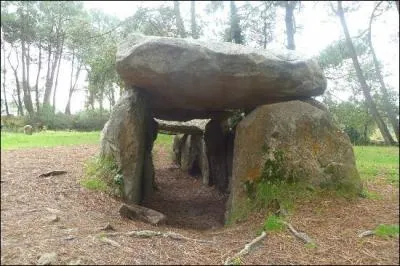
M 145 90 L 156 117 L 207 118 L 210 112 L 320 95 L 316 61 L 289 50 L 133 35 L 119 45 L 116 67 Z

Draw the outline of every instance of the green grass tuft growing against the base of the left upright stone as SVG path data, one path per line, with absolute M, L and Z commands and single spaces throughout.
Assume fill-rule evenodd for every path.
M 98 156 L 89 160 L 85 164 L 85 177 L 81 184 L 89 189 L 98 189 L 122 197 L 122 174 L 111 156 Z

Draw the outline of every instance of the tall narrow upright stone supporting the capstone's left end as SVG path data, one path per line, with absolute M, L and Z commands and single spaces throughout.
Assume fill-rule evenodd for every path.
M 115 159 L 123 176 L 123 197 L 129 203 L 139 203 L 143 198 L 143 169 L 148 157 L 146 134 L 151 134 L 146 133 L 146 106 L 146 98 L 140 91 L 127 89 L 101 134 L 100 154 Z

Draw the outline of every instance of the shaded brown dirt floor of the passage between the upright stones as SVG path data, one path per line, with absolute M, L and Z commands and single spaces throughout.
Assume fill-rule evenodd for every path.
M 226 195 L 184 173 L 170 162 L 165 149 L 155 150 L 157 191 L 143 205 L 167 215 L 167 224 L 181 228 L 215 229 L 224 225 Z

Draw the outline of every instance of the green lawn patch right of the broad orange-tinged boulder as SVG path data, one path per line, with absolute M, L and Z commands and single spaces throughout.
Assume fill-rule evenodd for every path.
M 384 176 L 399 184 L 399 147 L 355 146 L 357 168 L 364 180 Z

